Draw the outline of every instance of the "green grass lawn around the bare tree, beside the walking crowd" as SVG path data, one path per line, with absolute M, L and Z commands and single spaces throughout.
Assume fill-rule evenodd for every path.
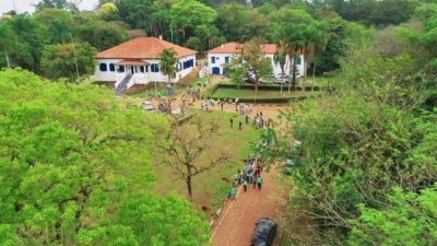
M 237 172 L 238 168 L 244 167 L 243 160 L 247 160 L 250 150 L 250 143 L 258 142 L 259 130 L 251 127 L 251 125 L 246 125 L 243 116 L 238 116 L 231 113 L 224 112 L 199 112 L 198 114 L 203 114 L 205 117 L 217 117 L 221 121 L 221 128 L 218 136 L 213 140 L 213 150 L 217 151 L 220 148 L 226 147 L 235 150 L 235 157 L 231 163 L 223 163 L 214 167 L 210 172 L 205 172 L 194 176 L 192 179 L 192 191 L 193 191 L 193 202 L 198 208 L 205 206 L 210 208 L 209 215 L 212 215 L 217 208 L 222 207 L 223 200 L 227 196 L 227 189 L 232 186 L 232 183 L 224 181 L 222 178 L 228 178 L 232 180 L 232 176 Z M 234 119 L 234 127 L 231 128 L 229 119 Z M 243 129 L 238 130 L 238 121 L 241 120 Z M 186 126 L 187 125 L 187 126 Z M 189 127 L 189 124 L 186 124 Z M 203 153 L 200 155 L 194 163 L 199 166 L 208 161 L 209 155 L 214 155 L 214 153 Z M 158 156 L 155 163 L 158 163 Z M 157 175 L 157 183 L 155 186 L 155 191 L 157 194 L 167 194 L 170 190 L 176 190 L 179 195 L 188 198 L 188 191 L 186 184 L 182 179 L 178 179 L 178 175 L 175 171 L 164 164 L 154 166 L 154 171 Z M 206 196 L 210 194 L 211 196 Z

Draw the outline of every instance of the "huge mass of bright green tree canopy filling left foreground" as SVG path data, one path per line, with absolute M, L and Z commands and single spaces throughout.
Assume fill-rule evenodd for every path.
M 0 87 L 1 245 L 209 245 L 201 211 L 151 192 L 165 117 L 22 69 Z

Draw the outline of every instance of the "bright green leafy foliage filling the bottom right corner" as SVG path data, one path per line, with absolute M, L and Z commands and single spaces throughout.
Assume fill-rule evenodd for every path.
M 349 245 L 435 245 L 437 244 L 437 184 L 418 194 L 393 188 L 383 209 L 359 206 Z

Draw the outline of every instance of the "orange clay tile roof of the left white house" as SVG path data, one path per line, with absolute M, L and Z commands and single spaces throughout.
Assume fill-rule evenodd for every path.
M 96 58 L 127 58 L 144 59 L 160 58 L 160 52 L 165 48 L 173 47 L 177 58 L 194 55 L 198 51 L 185 48 L 156 37 L 137 37 L 119 44 L 113 48 L 98 52 Z

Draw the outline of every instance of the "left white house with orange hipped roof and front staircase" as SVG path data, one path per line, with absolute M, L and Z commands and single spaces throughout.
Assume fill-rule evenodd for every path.
M 168 82 L 168 77 L 160 71 L 160 54 L 174 48 L 179 62 L 176 65 L 178 82 L 196 67 L 198 51 L 185 48 L 156 37 L 137 37 L 98 52 L 95 59 L 96 81 L 115 82 L 115 86 L 129 89 L 133 84 L 147 84 L 152 81 Z M 121 86 L 122 85 L 122 86 Z

